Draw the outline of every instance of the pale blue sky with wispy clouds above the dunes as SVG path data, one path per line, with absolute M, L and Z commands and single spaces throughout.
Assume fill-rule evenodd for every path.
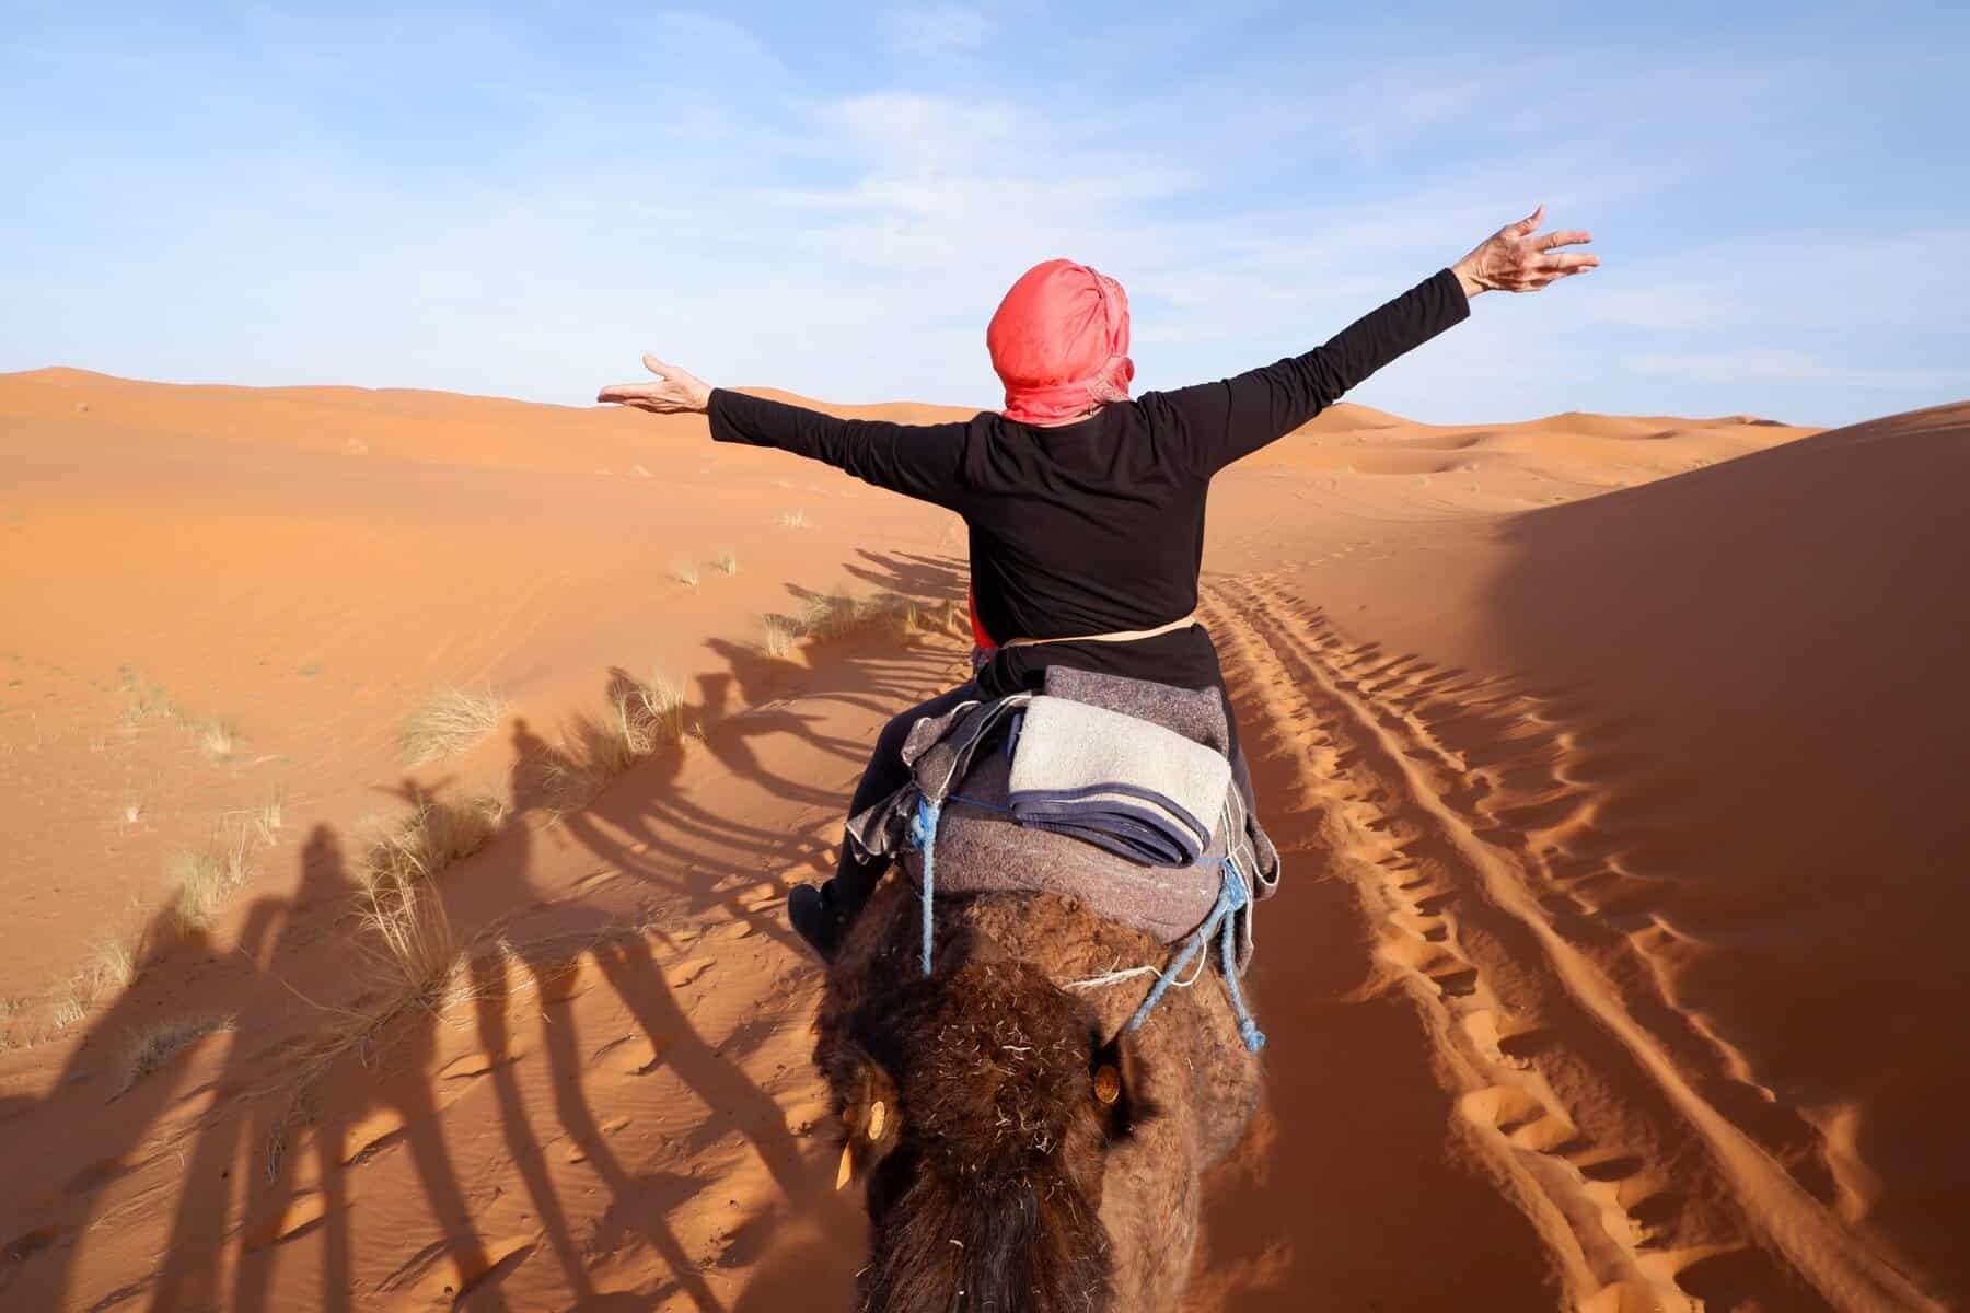
M 14 2 L 0 370 L 993 406 L 987 317 L 1072 256 L 1170 388 L 1544 201 L 1606 266 L 1355 400 L 1844 423 L 1970 396 L 1966 14 Z

